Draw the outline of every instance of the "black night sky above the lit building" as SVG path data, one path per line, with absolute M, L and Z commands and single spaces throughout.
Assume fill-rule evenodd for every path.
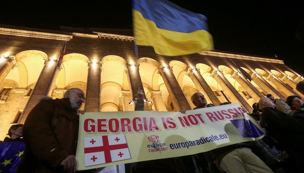
M 206 15 L 216 50 L 284 60 L 304 75 L 304 1 L 171 0 Z M 5 4 L 6 3 L 6 4 Z M 132 29 L 131 0 L 1 2 L 0 24 Z

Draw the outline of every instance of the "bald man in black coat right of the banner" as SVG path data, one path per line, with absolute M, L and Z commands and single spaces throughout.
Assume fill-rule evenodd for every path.
M 259 101 L 262 108 L 261 123 L 287 154 L 294 158 L 298 165 L 304 163 L 304 123 L 290 115 L 276 110 L 275 103 L 269 98 Z

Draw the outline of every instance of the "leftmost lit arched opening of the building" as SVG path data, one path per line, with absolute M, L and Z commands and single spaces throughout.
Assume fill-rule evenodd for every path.
M 0 119 L 2 130 L 0 139 L 3 139 L 9 127 L 16 118 L 19 119 L 26 106 L 29 96 L 44 67 L 47 54 L 39 50 L 26 50 L 15 55 L 16 66 L 12 66 L 9 73 L 0 83 Z

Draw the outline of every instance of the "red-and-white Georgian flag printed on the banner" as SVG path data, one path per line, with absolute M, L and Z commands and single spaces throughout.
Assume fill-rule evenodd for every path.
M 124 134 L 84 137 L 85 166 L 130 159 Z

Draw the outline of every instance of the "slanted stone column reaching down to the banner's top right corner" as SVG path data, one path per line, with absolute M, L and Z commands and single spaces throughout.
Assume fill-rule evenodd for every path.
M 231 83 L 226 79 L 223 73 L 219 70 L 213 70 L 211 75 L 223 88 L 225 94 L 230 97 L 232 103 L 240 103 L 243 105 L 248 112 L 252 112 L 252 107 L 247 103 L 247 101 L 240 95 L 240 93 L 231 85 Z

